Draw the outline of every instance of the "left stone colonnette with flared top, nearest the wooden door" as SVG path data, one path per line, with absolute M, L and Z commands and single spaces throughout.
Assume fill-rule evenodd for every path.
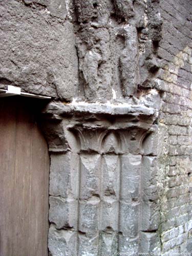
M 79 198 L 78 198 L 78 255 L 99 252 L 101 222 L 102 159 L 101 142 L 105 132 L 78 129 Z

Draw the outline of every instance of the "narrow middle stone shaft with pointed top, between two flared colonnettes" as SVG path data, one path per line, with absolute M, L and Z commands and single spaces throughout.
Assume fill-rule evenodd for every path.
M 109 133 L 102 144 L 102 188 L 100 256 L 111 256 L 118 250 L 119 225 L 119 156 L 117 134 Z

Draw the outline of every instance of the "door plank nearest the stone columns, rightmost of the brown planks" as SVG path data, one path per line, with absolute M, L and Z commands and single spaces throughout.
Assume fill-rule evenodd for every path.
M 49 168 L 47 166 L 47 144 L 40 134 L 37 125 L 33 127 L 32 143 L 32 179 L 31 179 L 31 233 L 30 255 L 46 256 L 45 243 L 47 244 L 47 212 L 48 212 L 48 182 Z M 38 179 L 37 179 L 38 177 Z M 38 223 L 35 220 L 38 219 Z M 33 234 L 36 233 L 36 236 Z

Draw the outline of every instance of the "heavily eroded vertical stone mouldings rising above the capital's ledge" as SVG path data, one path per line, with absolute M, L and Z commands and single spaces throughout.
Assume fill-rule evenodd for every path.
M 141 1 L 75 1 L 79 23 L 77 49 L 81 97 L 104 102 L 115 99 L 117 95 L 120 98 L 136 95 L 139 73 L 142 74 L 143 70 L 146 70 L 146 78 L 142 78 L 142 82 L 148 86 L 153 80 L 148 73 L 158 70 L 158 59 L 153 53 L 153 46 L 150 46 L 153 57 L 149 60 L 144 54 L 143 63 L 147 62 L 148 66 L 141 64 L 144 67 L 139 71 L 139 51 L 140 48 L 140 52 L 145 51 L 145 41 L 142 41 L 137 29 L 147 31 L 147 14 L 150 14 L 151 37 L 157 40 L 155 26 L 160 32 L 161 19 L 156 6 L 148 8 L 147 13 L 147 5 Z M 156 16 L 153 17 L 153 14 Z

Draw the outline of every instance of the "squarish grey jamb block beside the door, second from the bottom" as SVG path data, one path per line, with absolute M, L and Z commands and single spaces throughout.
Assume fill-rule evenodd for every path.
M 77 230 L 77 200 L 50 197 L 49 204 L 49 221 L 55 223 L 56 228 L 72 228 Z

